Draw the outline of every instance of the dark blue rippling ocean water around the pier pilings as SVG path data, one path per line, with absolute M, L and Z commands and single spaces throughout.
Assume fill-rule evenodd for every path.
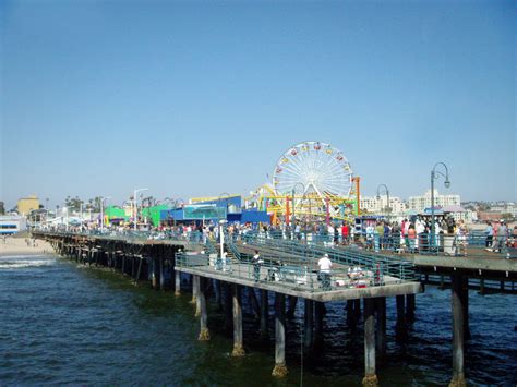
M 184 279 L 185 280 L 185 279 Z M 128 277 L 58 256 L 0 257 L 0 385 L 359 386 L 362 327 L 348 327 L 345 303 L 327 304 L 324 346 L 301 347 L 303 303 L 287 327 L 287 378 L 270 376 L 274 341 L 263 342 L 244 300 L 243 359 L 209 300 L 212 340 L 197 341 L 188 283 L 182 295 L 135 287 Z M 517 297 L 470 291 L 470 385 L 517 384 Z M 273 300 L 272 300 L 273 301 Z M 387 302 L 382 386 L 443 386 L 452 375 L 450 291 L 426 287 L 404 340 Z M 273 318 L 273 310 L 272 310 Z M 269 324 L 272 336 L 273 319 Z

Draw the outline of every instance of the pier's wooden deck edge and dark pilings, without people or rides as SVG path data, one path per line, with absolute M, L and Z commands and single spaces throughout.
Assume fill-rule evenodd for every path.
M 206 246 L 182 240 L 141 240 L 124 237 L 83 235 L 72 233 L 34 232 L 35 238 L 51 243 L 56 252 L 91 266 L 109 267 L 130 276 L 133 281 L 147 280 L 154 289 L 173 289 L 180 294 L 181 274 L 191 276 L 193 302 L 200 317 L 200 340 L 209 340 L 207 288 L 212 283 L 219 291 L 216 302 L 224 304 L 227 324 L 233 329 L 233 356 L 244 355 L 242 329 L 242 289 L 260 292 L 260 300 L 253 304 L 260 317 L 261 332 L 267 336 L 268 294 L 275 294 L 275 365 L 273 375 L 285 376 L 286 364 L 286 297 L 289 300 L 287 313 L 292 313 L 299 299 L 304 300 L 303 344 L 310 349 L 321 336 L 325 302 L 347 301 L 347 318 L 361 311 L 364 321 L 364 378 L 363 385 L 378 384 L 375 368 L 376 352 L 386 350 L 386 298 L 395 297 L 397 305 L 397 326 L 404 327 L 405 319 L 411 318 L 416 307 L 416 294 L 423 291 L 423 283 L 430 276 L 449 278 L 453 310 L 453 376 L 452 386 L 466 385 L 464 344 L 469 337 L 468 289 L 469 278 L 497 280 L 513 285 L 517 279 L 517 262 L 494 256 L 485 258 L 407 256 L 420 271 L 420 280 L 401 280 L 386 275 L 382 283 L 366 287 L 333 287 L 322 289 L 309 271 L 304 282 L 272 280 L 268 270 L 261 268 L 258 278 L 254 277 L 253 265 L 247 259 L 231 259 L 231 269 L 221 269 L 214 264 L 217 254 L 207 252 Z M 252 251 L 272 257 L 277 254 L 284 261 L 294 258 L 293 252 L 281 252 L 270 246 L 250 246 L 249 244 L 225 247 L 228 253 L 250 256 Z M 237 249 L 237 250 L 236 250 Z M 424 280 L 425 279 L 425 280 Z M 221 298 L 220 289 L 226 291 Z

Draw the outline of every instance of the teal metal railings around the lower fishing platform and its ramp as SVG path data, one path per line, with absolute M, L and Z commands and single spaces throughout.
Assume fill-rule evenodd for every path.
M 264 233 L 247 233 L 240 241 L 225 239 L 233 257 L 219 254 L 177 255 L 177 266 L 220 273 L 253 281 L 268 281 L 282 287 L 306 291 L 342 288 L 366 288 L 387 283 L 416 281 L 414 265 L 401 257 L 364 252 L 359 249 L 336 249 L 326 244 L 305 244 L 298 240 L 276 239 Z M 260 251 L 260 263 L 242 250 Z M 328 254 L 332 271 L 318 271 L 317 261 Z

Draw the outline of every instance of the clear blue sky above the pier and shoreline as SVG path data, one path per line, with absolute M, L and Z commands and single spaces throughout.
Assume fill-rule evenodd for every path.
M 248 193 L 322 141 L 364 195 L 517 199 L 512 1 L 3 1 L 0 199 Z M 437 188 L 445 192 L 442 182 Z

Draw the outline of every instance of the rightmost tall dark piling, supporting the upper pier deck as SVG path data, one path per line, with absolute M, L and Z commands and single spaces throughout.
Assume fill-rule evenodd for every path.
M 467 386 L 465 379 L 465 356 L 464 356 L 464 319 L 465 300 L 464 279 L 460 274 L 453 274 L 452 281 L 452 307 L 453 307 L 453 379 L 449 387 Z

